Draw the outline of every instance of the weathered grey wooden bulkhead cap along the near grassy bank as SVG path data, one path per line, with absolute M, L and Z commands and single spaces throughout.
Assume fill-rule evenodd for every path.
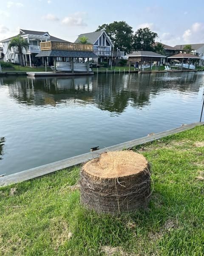
M 76 157 L 67 158 L 67 159 L 60 160 L 60 161 L 57 161 L 54 163 L 48 163 L 44 166 L 32 168 L 32 169 L 29 169 L 29 170 L 26 170 L 23 172 L 17 172 L 17 173 L 8 175 L 8 176 L 0 177 L 0 186 L 7 186 L 9 184 L 13 184 L 13 183 L 21 182 L 24 180 L 30 180 L 30 179 L 33 179 L 36 177 L 40 177 L 42 175 L 56 172 L 61 169 L 65 169 L 65 168 L 68 168 L 71 166 L 85 163 L 88 160 L 98 158 L 100 156 L 100 154 L 102 154 L 103 152 L 106 152 L 106 151 L 119 151 L 119 150 L 123 150 L 123 149 L 132 148 L 136 145 L 142 145 L 144 143 L 151 142 L 153 140 L 158 140 L 163 137 L 179 133 L 181 131 L 186 131 L 186 130 L 192 129 L 198 125 L 204 125 L 204 122 L 196 122 L 196 123 L 192 123 L 192 124 L 188 124 L 188 125 L 183 125 L 178 128 L 174 128 L 172 130 L 163 131 L 163 132 L 160 132 L 157 134 L 153 134 L 151 136 L 146 136 L 146 137 L 139 138 L 136 140 L 130 140 L 125 143 L 113 145 L 108 148 L 102 148 L 97 151 L 78 155 Z

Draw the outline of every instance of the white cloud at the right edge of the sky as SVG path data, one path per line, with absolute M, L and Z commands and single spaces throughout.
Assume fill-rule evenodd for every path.
M 182 35 L 185 43 L 199 44 L 204 42 L 204 23 L 195 22 Z

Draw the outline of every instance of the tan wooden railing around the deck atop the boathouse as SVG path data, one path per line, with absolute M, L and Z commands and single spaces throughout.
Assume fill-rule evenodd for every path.
M 74 51 L 93 51 L 93 44 L 78 44 L 58 41 L 47 41 L 40 43 L 41 51 L 45 50 L 74 50 Z

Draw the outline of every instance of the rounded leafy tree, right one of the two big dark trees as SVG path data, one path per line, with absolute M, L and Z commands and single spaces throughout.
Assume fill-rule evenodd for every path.
M 138 29 L 133 36 L 133 50 L 135 51 L 153 51 L 157 33 L 149 28 Z

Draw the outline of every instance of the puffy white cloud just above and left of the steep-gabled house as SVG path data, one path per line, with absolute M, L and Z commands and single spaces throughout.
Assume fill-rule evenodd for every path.
M 64 17 L 62 24 L 67 26 L 87 26 L 87 23 L 85 23 L 85 13 L 76 12 L 73 15 Z

